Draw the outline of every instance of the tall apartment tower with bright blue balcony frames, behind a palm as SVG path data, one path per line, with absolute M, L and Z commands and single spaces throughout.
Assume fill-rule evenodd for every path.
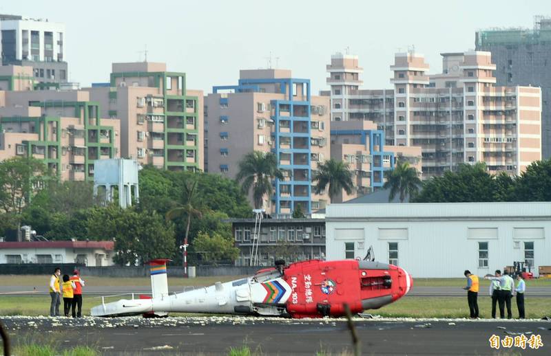
M 263 208 L 281 216 L 298 205 L 306 214 L 324 208 L 329 198 L 314 194 L 312 177 L 330 155 L 328 107 L 329 98 L 312 96 L 310 80 L 289 70 L 240 71 L 238 85 L 205 97 L 207 170 L 235 178 L 247 153 L 273 152 L 284 179 L 275 179 Z

